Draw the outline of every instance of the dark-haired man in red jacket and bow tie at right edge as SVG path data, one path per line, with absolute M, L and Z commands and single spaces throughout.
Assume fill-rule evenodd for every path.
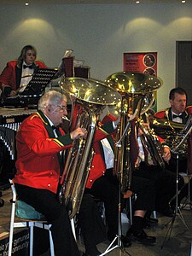
M 169 102 L 171 107 L 166 108 L 164 110 L 161 110 L 154 114 L 154 117 L 163 119 L 166 121 L 172 121 L 172 129 L 177 134 L 177 131 L 174 128 L 174 123 L 181 123 L 183 125 L 186 125 L 190 114 L 192 113 L 192 106 L 187 107 L 187 93 L 183 88 L 173 88 L 169 93 Z M 174 137 L 172 138 L 174 139 Z M 171 160 L 169 161 L 169 164 L 166 165 L 166 168 L 172 172 L 176 172 L 178 167 L 178 172 L 189 172 L 192 173 L 192 137 L 190 135 L 189 137 L 189 151 L 187 152 L 187 155 L 179 154 L 178 155 L 178 166 L 177 166 L 177 160 L 176 155 L 172 154 Z M 187 142 L 187 140 L 186 140 Z M 181 146 L 183 148 L 183 145 Z M 172 148 L 173 149 L 173 148 Z M 190 186 L 192 190 L 192 186 Z M 179 201 L 182 200 L 183 196 L 188 194 L 187 187 L 185 187 L 182 190 L 182 193 L 179 195 Z M 190 191 L 190 195 L 192 195 L 192 191 Z

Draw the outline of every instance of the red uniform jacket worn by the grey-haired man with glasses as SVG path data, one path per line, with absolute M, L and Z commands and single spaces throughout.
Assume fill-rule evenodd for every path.
M 49 189 L 56 193 L 60 179 L 57 154 L 72 147 L 73 143 L 69 134 L 65 135 L 64 131 L 60 131 L 63 136 L 55 138 L 52 128 L 40 111 L 22 122 L 16 135 L 15 183 L 37 189 Z M 112 131 L 112 123 L 103 125 L 96 130 L 95 140 L 100 141 Z

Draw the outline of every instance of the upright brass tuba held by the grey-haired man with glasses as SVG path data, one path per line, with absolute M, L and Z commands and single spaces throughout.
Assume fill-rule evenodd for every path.
M 70 96 L 73 104 L 71 131 L 78 127 L 87 130 L 86 138 L 81 137 L 73 141 L 73 148 L 68 151 L 61 177 L 59 199 L 61 203 L 66 204 L 69 217 L 73 218 L 79 212 L 90 171 L 97 120 L 102 108 L 117 104 L 121 101 L 121 96 L 113 88 L 93 79 L 61 79 L 59 85 L 61 90 Z

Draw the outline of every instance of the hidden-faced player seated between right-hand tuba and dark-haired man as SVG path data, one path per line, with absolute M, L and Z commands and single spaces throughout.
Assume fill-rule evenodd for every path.
M 148 130 L 148 132 L 150 132 L 150 130 Z M 172 196 L 176 193 L 176 174 L 166 170 L 166 168 L 158 164 L 155 158 L 153 158 L 153 156 L 150 155 L 150 152 L 148 152 L 148 145 L 145 145 L 145 141 L 141 139 L 142 136 L 143 131 L 138 129 L 137 142 L 139 146 L 139 154 L 133 175 L 137 177 L 145 177 L 154 182 L 155 210 L 164 216 L 172 217 L 174 211 L 172 207 L 170 207 L 169 201 L 171 201 Z M 162 161 L 168 162 L 171 158 L 170 148 L 167 147 L 166 143 L 160 137 L 159 139 L 163 151 Z M 153 140 L 151 140 L 151 143 L 153 143 Z M 155 145 L 154 143 L 154 148 L 156 147 L 158 147 L 158 145 Z M 153 148 L 151 149 L 153 150 Z M 161 153 L 156 151 L 154 154 Z M 179 188 L 182 187 L 182 178 L 178 185 Z

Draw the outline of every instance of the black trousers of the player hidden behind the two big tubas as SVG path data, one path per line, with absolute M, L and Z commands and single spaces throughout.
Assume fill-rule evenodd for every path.
M 154 210 L 154 183 L 143 177 L 132 177 L 131 190 L 137 193 L 135 210 Z M 119 223 L 119 181 L 113 176 L 113 169 L 108 169 L 105 175 L 96 179 L 91 189 L 86 192 L 104 202 L 108 222 L 108 236 L 118 234 Z M 121 202 L 124 201 L 121 196 Z M 122 202 L 124 205 L 124 202 Z

